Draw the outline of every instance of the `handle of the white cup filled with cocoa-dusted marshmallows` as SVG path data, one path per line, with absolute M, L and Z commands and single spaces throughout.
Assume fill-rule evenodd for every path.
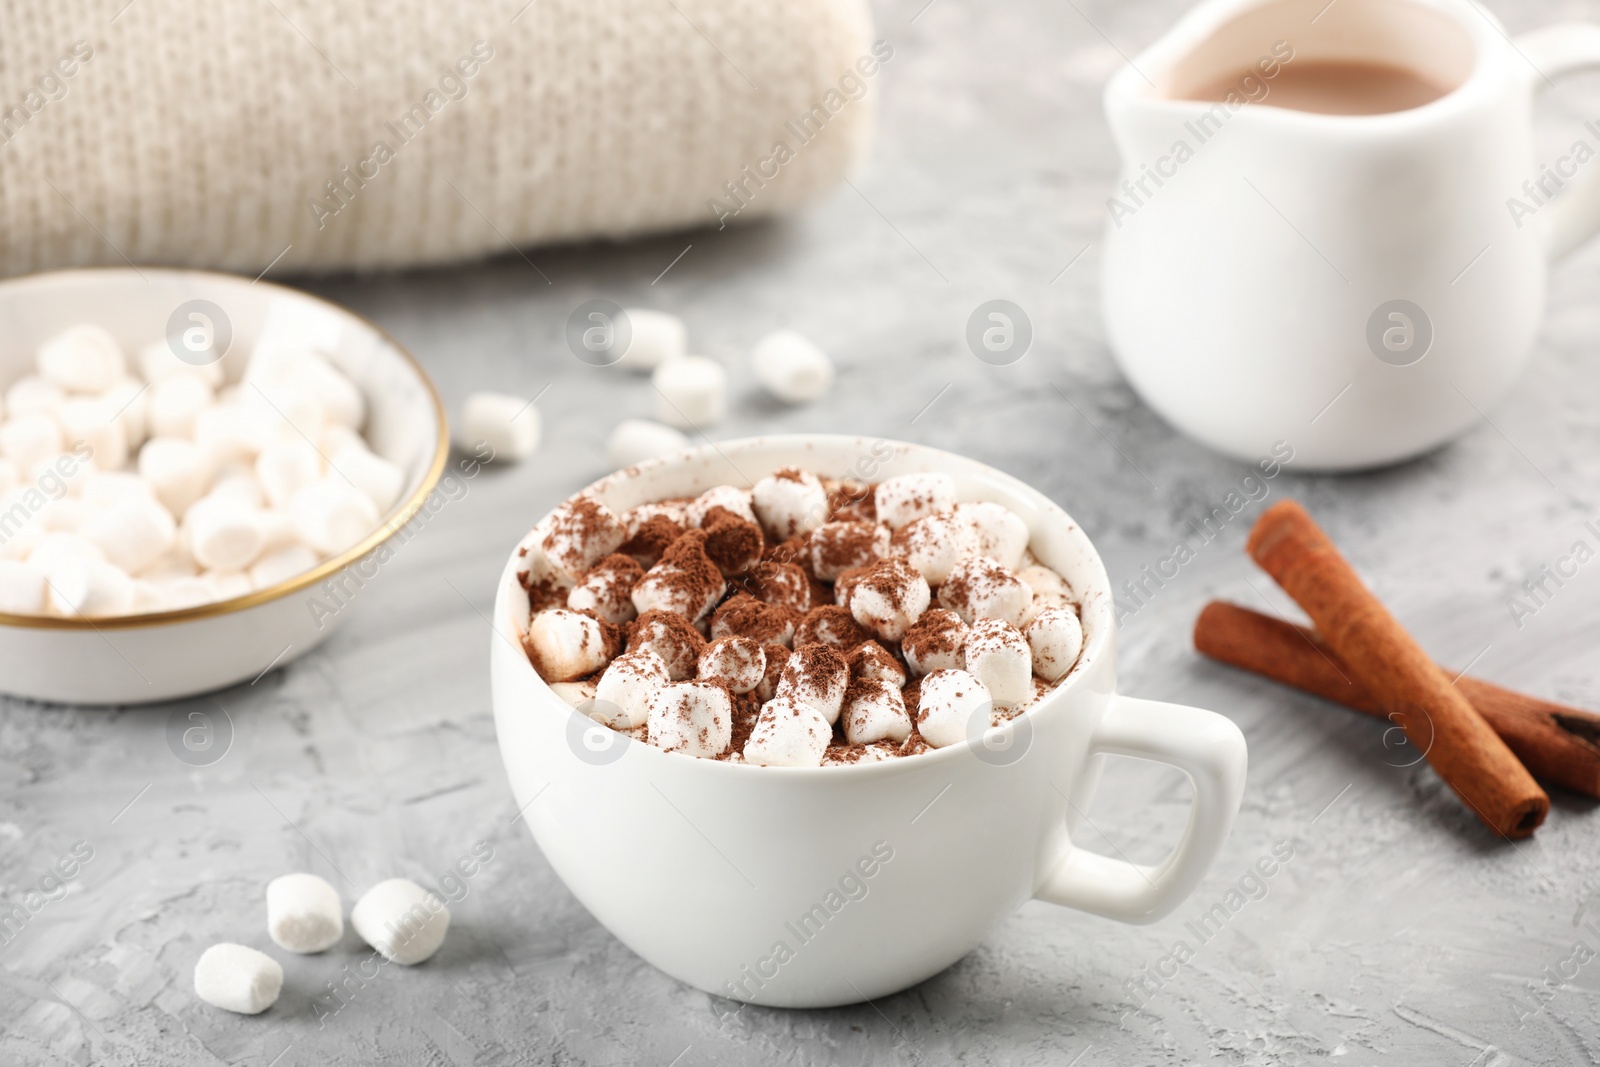
M 1074 845 L 1034 896 L 1123 923 L 1154 923 L 1194 891 L 1234 827 L 1245 793 L 1245 736 L 1216 712 L 1114 696 L 1088 755 L 1176 766 L 1195 790 L 1189 825 L 1171 854 L 1154 867 Z

